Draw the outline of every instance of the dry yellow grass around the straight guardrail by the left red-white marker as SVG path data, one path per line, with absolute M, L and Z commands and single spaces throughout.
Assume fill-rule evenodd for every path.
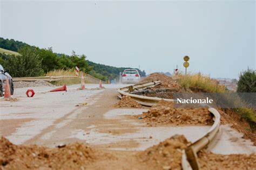
M 57 69 L 57 70 L 52 70 L 52 71 L 46 73 L 46 76 L 76 76 L 76 72 L 75 72 L 75 69 L 68 69 L 68 70 Z M 81 83 L 80 77 L 81 77 L 81 72 L 79 72 L 78 77 L 62 78 L 60 81 L 53 82 L 53 84 L 55 84 L 57 86 L 63 85 L 63 84 L 66 84 L 66 85 L 80 84 Z M 86 79 L 85 79 L 85 83 L 86 83 Z

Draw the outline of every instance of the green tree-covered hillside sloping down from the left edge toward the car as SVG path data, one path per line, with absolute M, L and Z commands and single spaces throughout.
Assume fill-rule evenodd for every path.
M 52 70 L 69 70 L 78 66 L 82 72 L 107 81 L 118 79 L 119 72 L 129 69 L 100 65 L 86 60 L 85 54 L 78 55 L 75 51 L 71 55 L 58 54 L 54 53 L 51 47 L 38 48 L 13 39 L 0 38 L 0 48 L 4 48 L 0 50 L 0 64 L 9 69 L 10 74 L 14 77 L 43 76 Z M 31 54 L 33 57 L 29 58 L 27 54 Z M 32 63 L 35 64 L 31 65 Z M 37 69 L 31 68 L 35 65 Z M 20 68 L 26 68 L 26 70 Z M 144 71 L 139 69 L 138 71 L 140 75 L 145 76 Z

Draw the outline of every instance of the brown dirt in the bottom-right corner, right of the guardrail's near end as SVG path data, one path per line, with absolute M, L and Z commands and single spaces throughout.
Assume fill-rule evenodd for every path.
M 203 150 L 198 158 L 201 169 L 256 169 L 256 154 L 221 155 Z

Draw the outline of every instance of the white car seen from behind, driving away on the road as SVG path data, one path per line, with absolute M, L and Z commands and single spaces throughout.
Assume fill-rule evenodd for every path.
M 122 83 L 138 83 L 140 75 L 137 69 L 125 69 L 122 74 Z

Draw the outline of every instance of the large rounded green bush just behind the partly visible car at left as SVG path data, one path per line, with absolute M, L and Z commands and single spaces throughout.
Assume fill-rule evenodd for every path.
M 21 55 L 12 56 L 7 59 L 6 68 L 14 77 L 40 76 L 43 74 L 41 67 L 42 59 L 36 48 L 24 46 L 18 50 Z

